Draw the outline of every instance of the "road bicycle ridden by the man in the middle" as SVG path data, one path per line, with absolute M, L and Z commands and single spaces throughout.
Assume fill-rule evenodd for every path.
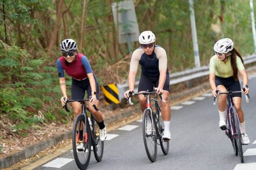
M 150 97 L 151 94 L 155 94 L 154 98 Z M 147 90 L 147 92 L 134 94 L 130 93 L 128 99 L 130 105 L 133 105 L 131 102 L 131 96 L 133 95 L 144 95 L 147 97 L 147 108 L 144 110 L 142 118 L 142 133 L 148 159 L 150 159 L 151 162 L 155 162 L 157 155 L 157 145 L 159 145 L 159 143 L 164 155 L 167 155 L 169 151 L 169 141 L 163 141 L 162 139 L 164 124 L 161 109 L 158 104 L 158 98 L 155 91 L 148 92 Z M 159 96 L 163 102 L 166 102 L 162 95 Z M 151 100 L 155 101 L 155 111 L 153 111 L 151 107 Z M 159 143 L 157 143 L 157 139 L 159 139 Z

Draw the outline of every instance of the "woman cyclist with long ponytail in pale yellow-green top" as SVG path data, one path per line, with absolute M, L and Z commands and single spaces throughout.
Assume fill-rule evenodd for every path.
M 244 94 L 249 93 L 248 76 L 243 66 L 241 54 L 234 48 L 234 43 L 231 39 L 221 39 L 216 42 L 213 49 L 216 55 L 210 58 L 209 68 L 209 83 L 212 87 L 212 94 L 217 96 L 216 90 L 226 92 L 226 87 L 230 91 L 240 91 L 241 86 L 238 79 L 238 71 L 243 79 Z M 250 143 L 249 137 L 245 131 L 245 120 L 241 108 L 241 94 L 233 94 L 232 99 L 237 109 L 238 117 L 242 130 L 243 145 Z M 220 115 L 219 126 L 222 130 L 226 130 L 226 95 L 220 95 L 218 100 L 218 112 Z

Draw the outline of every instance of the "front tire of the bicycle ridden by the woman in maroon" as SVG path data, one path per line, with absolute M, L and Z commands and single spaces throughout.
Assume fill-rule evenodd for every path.
M 82 151 L 77 150 L 77 142 L 79 141 L 79 135 L 80 133 L 77 133 L 77 127 L 79 125 L 83 127 L 83 142 L 84 148 Z M 90 154 L 91 154 L 91 141 L 90 141 L 90 133 L 87 133 L 87 135 L 84 133 L 85 127 L 87 131 L 89 132 L 89 127 L 85 124 L 85 118 L 83 114 L 80 114 L 76 117 L 76 120 L 73 125 L 73 133 L 72 133 L 72 147 L 73 147 L 73 155 L 75 158 L 75 162 L 77 167 L 79 169 L 86 169 L 90 162 Z M 87 142 L 85 142 L 85 138 L 87 136 Z M 81 144 L 81 143 L 80 143 Z

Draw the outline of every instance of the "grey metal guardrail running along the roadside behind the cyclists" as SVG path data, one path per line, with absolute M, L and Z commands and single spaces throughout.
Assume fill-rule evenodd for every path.
M 245 65 L 256 62 L 256 54 L 243 57 Z M 187 82 L 196 78 L 209 75 L 209 66 L 202 66 L 200 68 L 187 69 L 177 73 L 170 74 L 170 86 L 181 82 Z M 139 80 L 135 82 L 135 91 L 138 91 Z M 125 97 L 123 94 L 129 88 L 129 84 L 117 84 L 119 100 Z

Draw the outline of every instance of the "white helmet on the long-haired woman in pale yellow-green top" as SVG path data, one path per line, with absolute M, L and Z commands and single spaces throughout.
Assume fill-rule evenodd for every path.
M 234 42 L 228 38 L 218 40 L 213 47 L 215 52 L 224 53 L 224 54 L 231 52 L 233 48 L 234 48 Z

